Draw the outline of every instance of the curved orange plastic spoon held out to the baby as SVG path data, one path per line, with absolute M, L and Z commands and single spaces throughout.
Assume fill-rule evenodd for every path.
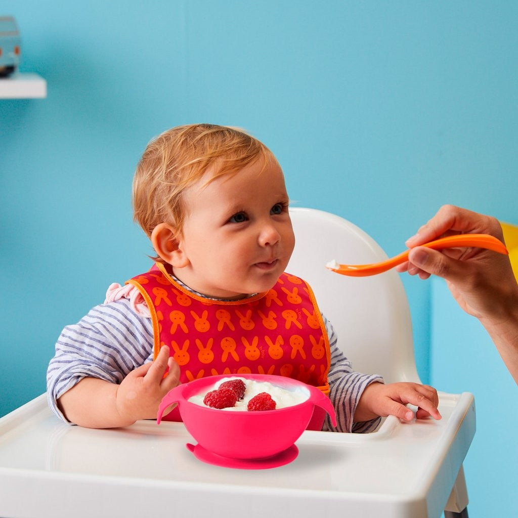
M 505 245 L 496 237 L 488 234 L 457 234 L 455 236 L 443 237 L 423 243 L 421 247 L 433 248 L 434 250 L 442 250 L 443 248 L 456 247 L 478 247 L 493 250 L 500 254 L 509 254 Z M 335 271 L 337 274 L 349 275 L 352 277 L 366 277 L 368 275 L 381 274 L 384 271 L 390 270 L 398 264 L 408 261 L 408 252 L 405 250 L 400 254 L 382 261 L 381 263 L 373 264 L 338 264 L 336 261 L 331 261 L 326 264 L 326 268 Z

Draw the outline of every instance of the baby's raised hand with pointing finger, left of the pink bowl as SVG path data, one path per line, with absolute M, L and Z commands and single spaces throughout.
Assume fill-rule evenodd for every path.
M 137 367 L 122 380 L 116 394 L 119 415 L 133 422 L 156 418 L 162 398 L 179 383 L 180 367 L 163 346 L 154 362 Z

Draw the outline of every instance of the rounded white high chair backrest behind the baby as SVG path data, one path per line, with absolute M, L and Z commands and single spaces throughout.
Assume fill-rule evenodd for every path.
M 295 250 L 286 271 L 311 285 L 332 322 L 338 346 L 354 370 L 379 374 L 387 383 L 419 382 L 407 296 L 397 272 L 346 277 L 325 265 L 377 263 L 387 258 L 362 229 L 335 214 L 291 208 Z

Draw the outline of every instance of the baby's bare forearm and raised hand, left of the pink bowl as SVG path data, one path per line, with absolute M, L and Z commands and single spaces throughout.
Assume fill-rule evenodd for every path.
M 155 418 L 162 398 L 178 385 L 179 378 L 180 367 L 169 357 L 169 348 L 162 347 L 153 363 L 137 367 L 120 385 L 83 378 L 57 400 L 57 405 L 68 421 L 80 426 L 127 426 L 139 419 Z

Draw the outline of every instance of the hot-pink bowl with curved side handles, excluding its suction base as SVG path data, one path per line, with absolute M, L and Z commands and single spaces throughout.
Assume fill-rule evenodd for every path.
M 166 408 L 178 403 L 185 427 L 198 443 L 209 452 L 235 459 L 269 457 L 290 448 L 308 428 L 320 429 L 325 412 L 336 426 L 335 411 L 329 398 L 316 387 L 285 378 L 267 375 L 237 375 L 240 378 L 268 381 L 287 390 L 305 390 L 308 399 L 298 405 L 256 412 L 217 410 L 188 401 L 191 396 L 206 392 L 228 375 L 209 376 L 178 385 L 166 394 L 157 414 L 160 424 Z M 324 412 L 321 410 L 323 409 Z M 313 410 L 315 415 L 313 416 Z

